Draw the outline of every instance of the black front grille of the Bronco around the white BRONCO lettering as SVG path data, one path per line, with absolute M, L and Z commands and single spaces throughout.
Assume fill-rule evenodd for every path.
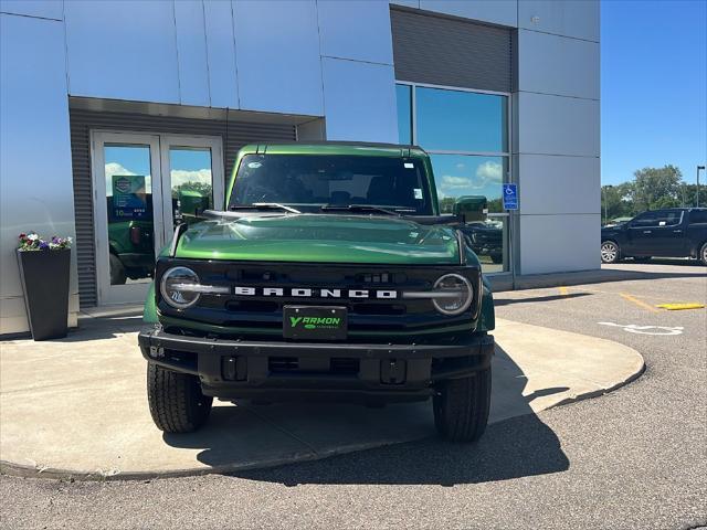
M 208 285 L 228 285 L 229 295 L 202 295 L 199 303 L 188 309 L 177 310 L 159 299 L 160 314 L 172 319 L 184 319 L 217 326 L 221 335 L 249 336 L 266 333 L 275 336 L 283 326 L 283 308 L 287 305 L 316 305 L 345 307 L 348 311 L 349 339 L 352 335 L 360 340 L 367 332 L 379 341 L 399 341 L 395 337 L 410 333 L 404 340 L 418 340 L 416 336 L 434 333 L 437 329 L 454 327 L 468 329 L 479 304 L 481 271 L 461 265 L 340 265 L 306 263 L 253 263 L 219 262 L 205 259 L 160 259 L 157 282 L 169 267 L 184 265 L 192 268 L 201 282 Z M 455 317 L 444 316 L 434 309 L 430 299 L 403 298 L 407 290 L 430 290 L 440 276 L 449 273 L 465 275 L 475 286 L 475 301 L 469 309 Z M 252 296 L 236 294 L 235 287 L 252 287 Z M 276 296 L 264 296 L 264 289 L 282 289 Z M 312 297 L 292 296 L 293 289 L 312 292 Z M 368 289 L 394 292 L 395 298 L 351 299 L 321 297 L 324 289 L 350 290 Z M 170 322 L 171 325 L 172 322 Z M 247 331 L 250 330 L 250 331 Z M 215 332 L 215 331 L 214 331 Z M 403 339 L 400 339 L 403 340 Z

